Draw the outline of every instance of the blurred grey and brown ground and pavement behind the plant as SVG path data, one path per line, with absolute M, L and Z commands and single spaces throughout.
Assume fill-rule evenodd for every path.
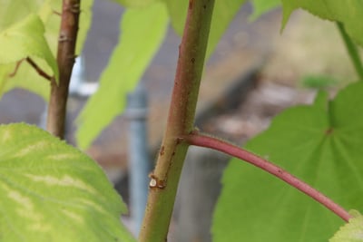
M 296 12 L 280 33 L 280 9 L 255 22 L 249 20 L 251 12 L 249 4 L 240 9 L 208 61 L 196 117 L 196 126 L 201 131 L 238 144 L 266 129 L 270 119 L 280 111 L 312 102 L 319 89 L 333 95 L 355 76 L 335 24 Z M 66 140 L 74 145 L 74 119 L 97 90 L 100 74 L 118 42 L 122 15 L 120 5 L 94 1 L 93 24 L 74 67 L 68 102 Z M 180 37 L 170 28 L 161 50 L 144 73 L 133 96 L 141 98 L 142 104 L 136 101 L 136 110 L 142 111 L 142 117 L 135 118 L 129 107 L 85 150 L 101 164 L 130 205 L 131 212 L 124 221 L 134 233 L 138 230 L 138 222 L 134 220 L 138 218 L 132 215 L 137 211 L 132 209 L 135 203 L 131 202 L 130 143 L 132 139 L 144 141 L 146 153 L 136 159 L 145 165 L 142 172 L 151 171 L 165 127 L 180 42 Z M 6 93 L 0 102 L 0 123 L 26 121 L 44 126 L 45 110 L 42 98 L 16 89 Z M 139 123 L 136 131 L 130 128 L 132 121 Z M 212 210 L 228 160 L 227 156 L 211 150 L 192 148 L 189 151 L 170 241 L 211 241 Z M 145 180 L 142 194 L 148 189 L 148 179 Z

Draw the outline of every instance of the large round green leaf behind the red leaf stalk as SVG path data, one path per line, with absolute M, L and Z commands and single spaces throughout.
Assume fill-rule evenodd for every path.
M 283 111 L 246 145 L 319 189 L 343 208 L 362 208 L 363 82 L 328 102 Z M 240 160 L 225 170 L 214 241 L 328 241 L 343 221 L 280 179 Z

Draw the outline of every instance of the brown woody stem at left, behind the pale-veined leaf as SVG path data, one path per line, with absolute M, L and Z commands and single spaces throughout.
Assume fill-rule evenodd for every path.
M 57 63 L 59 82 L 52 80 L 46 129 L 54 136 L 64 138 L 64 124 L 68 87 L 75 59 L 75 43 L 80 15 L 80 0 L 64 0 L 58 40 Z

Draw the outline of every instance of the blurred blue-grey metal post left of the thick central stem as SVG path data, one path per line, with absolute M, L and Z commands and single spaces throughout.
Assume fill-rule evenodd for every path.
M 146 206 L 149 189 L 148 173 L 150 161 L 146 128 L 147 94 L 142 83 L 128 95 L 126 117 L 130 121 L 129 130 L 129 177 L 130 209 L 133 221 L 133 233 L 138 235 Z

